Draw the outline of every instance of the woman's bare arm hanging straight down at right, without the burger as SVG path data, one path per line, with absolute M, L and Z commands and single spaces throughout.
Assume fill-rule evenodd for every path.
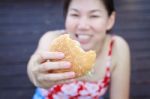
M 110 99 L 129 99 L 130 90 L 130 51 L 121 37 L 115 38 L 115 66 L 111 76 Z

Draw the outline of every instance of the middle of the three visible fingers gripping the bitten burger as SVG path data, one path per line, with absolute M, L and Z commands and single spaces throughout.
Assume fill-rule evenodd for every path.
M 47 72 L 49 70 L 55 69 L 66 69 L 70 68 L 71 63 L 67 61 L 59 61 L 59 62 L 45 62 L 38 67 L 39 72 Z

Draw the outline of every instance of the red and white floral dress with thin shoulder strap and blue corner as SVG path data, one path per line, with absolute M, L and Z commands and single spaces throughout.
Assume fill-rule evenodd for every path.
M 97 82 L 74 81 L 58 84 L 49 90 L 37 88 L 33 99 L 102 99 L 110 83 L 110 66 L 114 39 L 109 44 L 105 76 Z

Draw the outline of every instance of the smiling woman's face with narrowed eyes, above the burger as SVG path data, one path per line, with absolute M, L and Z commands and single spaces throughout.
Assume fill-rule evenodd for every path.
M 100 0 L 72 0 L 66 16 L 66 31 L 80 42 L 84 50 L 98 50 L 104 43 L 106 31 L 112 27 Z

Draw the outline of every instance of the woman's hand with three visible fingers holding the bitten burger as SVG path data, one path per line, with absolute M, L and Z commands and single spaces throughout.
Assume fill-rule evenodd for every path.
M 34 84 L 38 87 L 49 88 L 50 86 L 62 80 L 74 78 L 74 72 L 50 73 L 48 71 L 55 69 L 66 69 L 71 67 L 71 63 L 67 61 L 48 61 L 50 59 L 63 59 L 64 54 L 61 52 L 40 52 L 36 53 L 35 63 L 33 64 L 32 74 L 34 76 Z

